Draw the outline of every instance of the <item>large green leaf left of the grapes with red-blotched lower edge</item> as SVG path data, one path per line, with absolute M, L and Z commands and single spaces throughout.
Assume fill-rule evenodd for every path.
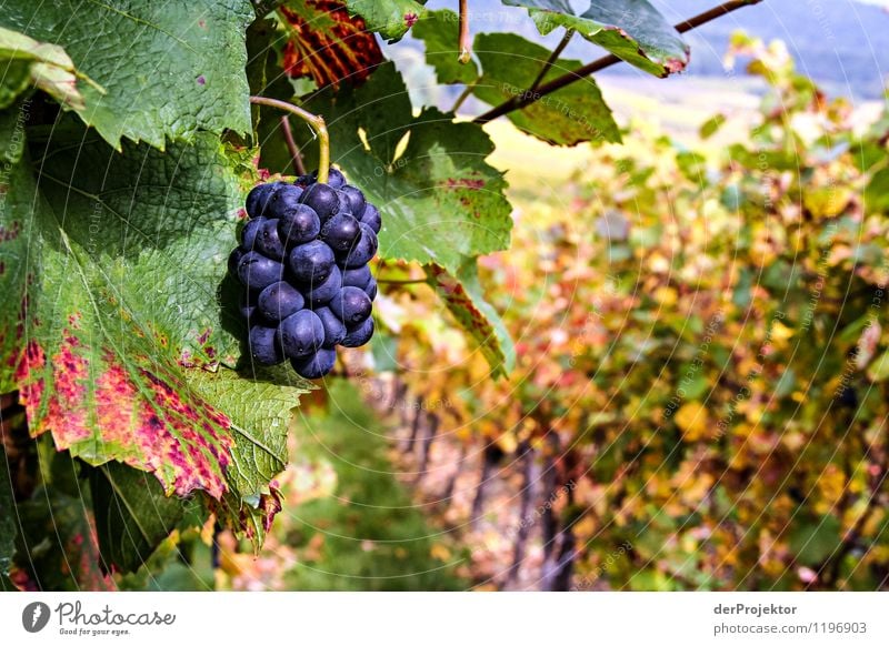
M 27 297 L 2 304 L 0 337 L 18 340 L 9 363 L 29 428 L 89 464 L 152 472 L 168 495 L 219 499 L 232 491 L 227 468 L 240 466 L 234 447 L 257 433 L 237 434 L 222 410 L 254 403 L 253 393 L 209 403 L 191 381 L 240 354 L 242 323 L 219 293 L 241 160 L 206 134 L 167 153 L 116 153 L 77 124 L 52 133 L 32 147 L 40 191 L 22 161 L 13 208 L 0 213 L 0 263 L 24 265 Z

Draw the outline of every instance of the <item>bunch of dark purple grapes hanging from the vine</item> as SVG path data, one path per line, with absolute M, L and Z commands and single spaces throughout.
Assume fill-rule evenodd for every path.
M 229 259 L 246 287 L 241 313 L 253 361 L 289 359 L 310 380 L 333 369 L 337 345 L 358 347 L 373 335 L 377 281 L 368 263 L 381 224 L 377 208 L 341 172 L 330 169 L 326 184 L 317 176 L 250 191 L 250 220 Z

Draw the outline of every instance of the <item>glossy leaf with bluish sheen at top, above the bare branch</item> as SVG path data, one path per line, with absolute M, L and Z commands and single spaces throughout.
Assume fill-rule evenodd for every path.
M 540 33 L 565 27 L 628 63 L 658 77 L 686 69 L 689 48 L 679 32 L 647 0 L 590 2 L 577 14 L 567 0 L 502 0 L 527 7 Z

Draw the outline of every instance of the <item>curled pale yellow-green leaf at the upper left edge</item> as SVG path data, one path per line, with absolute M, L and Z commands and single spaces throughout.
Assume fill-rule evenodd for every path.
M 0 67 L 3 69 L 0 110 L 8 108 L 28 85 L 43 90 L 74 110 L 84 108 L 83 97 L 77 89 L 74 63 L 61 47 L 0 27 Z M 93 87 L 103 91 L 94 83 Z

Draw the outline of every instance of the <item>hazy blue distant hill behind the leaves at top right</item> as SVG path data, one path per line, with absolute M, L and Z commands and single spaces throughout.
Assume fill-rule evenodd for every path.
M 597 0 L 609 1 L 609 0 Z M 717 4 L 717 0 L 650 0 L 671 22 L 679 22 Z M 431 9 L 453 8 L 450 0 L 431 0 Z M 589 0 L 572 0 L 583 10 Z M 525 38 L 555 46 L 558 34 L 542 39 L 522 10 L 505 7 L 499 0 L 472 0 L 479 20 L 478 31 L 509 30 Z M 509 16 L 509 20 L 507 20 Z M 722 77 L 722 55 L 729 36 L 742 29 L 766 40 L 781 39 L 797 60 L 799 69 L 827 87 L 829 91 L 861 99 L 883 94 L 889 77 L 889 12 L 855 0 L 763 0 L 740 9 L 686 34 L 691 44 L 691 75 Z M 589 42 L 575 39 L 566 55 L 585 61 L 598 52 Z M 629 65 L 612 68 L 608 73 L 635 73 Z

